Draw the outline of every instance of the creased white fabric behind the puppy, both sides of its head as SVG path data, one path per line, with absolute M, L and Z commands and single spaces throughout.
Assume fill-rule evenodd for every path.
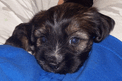
M 58 0 L 0 0 L 0 44 L 5 43 L 18 24 L 57 4 Z M 115 20 L 111 35 L 122 41 L 122 0 L 94 0 L 93 6 Z

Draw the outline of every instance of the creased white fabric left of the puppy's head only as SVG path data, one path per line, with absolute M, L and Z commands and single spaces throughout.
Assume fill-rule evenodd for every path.
M 0 44 L 5 43 L 18 24 L 57 4 L 58 0 L 0 0 Z

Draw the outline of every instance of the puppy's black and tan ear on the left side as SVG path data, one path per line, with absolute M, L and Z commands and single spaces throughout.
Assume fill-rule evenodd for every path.
M 29 45 L 30 45 L 30 36 L 29 36 L 29 31 L 30 31 L 30 25 L 28 23 L 22 23 L 19 24 L 12 36 L 7 39 L 6 43 L 7 45 L 12 45 L 15 47 L 20 47 L 25 49 L 26 51 L 29 50 Z M 28 31 L 28 32 L 27 32 Z

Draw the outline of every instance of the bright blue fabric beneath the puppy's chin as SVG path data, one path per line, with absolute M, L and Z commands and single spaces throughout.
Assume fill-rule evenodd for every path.
M 83 67 L 66 75 L 45 72 L 23 49 L 1 45 L 0 81 L 122 81 L 122 42 L 108 36 L 94 43 Z

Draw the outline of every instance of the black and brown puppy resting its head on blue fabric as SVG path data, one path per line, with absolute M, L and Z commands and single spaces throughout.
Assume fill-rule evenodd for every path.
M 48 72 L 74 73 L 88 58 L 93 42 L 101 42 L 113 27 L 114 20 L 96 8 L 64 3 L 18 25 L 5 44 L 31 51 Z

